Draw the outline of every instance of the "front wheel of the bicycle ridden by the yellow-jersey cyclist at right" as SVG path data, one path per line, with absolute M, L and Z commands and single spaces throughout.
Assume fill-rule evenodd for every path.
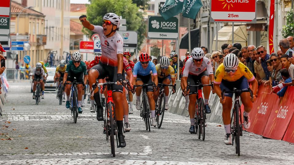
M 239 123 L 239 104 L 235 104 L 235 116 L 234 116 L 234 126 L 235 126 L 235 149 L 236 149 L 236 154 L 240 156 L 240 123 Z

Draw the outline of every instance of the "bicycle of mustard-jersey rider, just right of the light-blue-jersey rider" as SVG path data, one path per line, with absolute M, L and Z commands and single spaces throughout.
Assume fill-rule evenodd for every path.
M 157 98 L 157 101 L 155 102 L 155 120 L 157 122 L 157 128 L 160 128 L 163 121 L 164 111 L 165 111 L 165 93 L 164 93 L 164 87 L 165 86 L 172 86 L 174 91 L 176 91 L 176 84 L 174 85 L 168 85 L 168 84 L 162 84 L 158 83 L 159 88 L 159 95 Z M 174 94 L 174 93 L 172 93 Z M 156 127 L 156 126 L 154 126 Z

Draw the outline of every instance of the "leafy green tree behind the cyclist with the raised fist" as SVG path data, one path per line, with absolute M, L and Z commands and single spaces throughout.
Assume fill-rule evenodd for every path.
M 143 12 L 139 11 L 139 7 L 132 3 L 132 0 L 91 0 L 91 4 L 87 5 L 87 20 L 93 25 L 102 26 L 103 16 L 106 13 L 116 13 L 126 19 L 127 30 L 137 31 L 138 48 L 143 43 L 146 33 L 146 24 L 143 20 Z M 94 34 L 83 28 L 83 32 L 89 37 Z

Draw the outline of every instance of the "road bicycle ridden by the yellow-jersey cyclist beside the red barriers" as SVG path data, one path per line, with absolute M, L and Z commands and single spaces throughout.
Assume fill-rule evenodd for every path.
M 236 154 L 240 156 L 240 136 L 242 136 L 242 116 L 241 116 L 241 105 L 240 105 L 240 96 L 243 92 L 249 92 L 251 98 L 253 98 L 253 93 L 250 88 L 246 90 L 237 90 L 237 88 L 233 88 L 233 91 L 226 91 L 225 89 L 222 91 L 222 98 L 225 97 L 225 93 L 235 94 L 234 99 L 234 108 L 233 114 L 231 116 L 231 135 L 232 135 L 232 145 L 235 144 Z

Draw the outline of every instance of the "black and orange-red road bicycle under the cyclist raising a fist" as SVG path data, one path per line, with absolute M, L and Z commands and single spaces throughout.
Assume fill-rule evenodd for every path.
M 112 89 L 113 85 L 117 84 L 117 82 L 110 82 L 108 78 L 106 78 L 105 83 L 94 83 L 92 85 L 92 91 L 91 94 L 94 92 L 97 86 L 102 86 L 103 91 L 105 90 L 105 87 L 107 87 L 107 104 L 105 108 L 105 117 L 104 117 L 104 129 L 106 134 L 106 141 L 109 142 L 110 138 L 110 148 L 111 148 L 111 154 L 113 154 L 113 157 L 115 157 L 115 146 L 114 146 L 114 136 L 116 137 L 116 146 L 119 148 L 119 142 L 117 138 L 118 129 L 116 124 L 116 113 L 115 113 L 115 105 L 112 97 Z M 123 86 L 125 84 L 123 83 Z M 100 92 L 99 92 L 100 93 Z

